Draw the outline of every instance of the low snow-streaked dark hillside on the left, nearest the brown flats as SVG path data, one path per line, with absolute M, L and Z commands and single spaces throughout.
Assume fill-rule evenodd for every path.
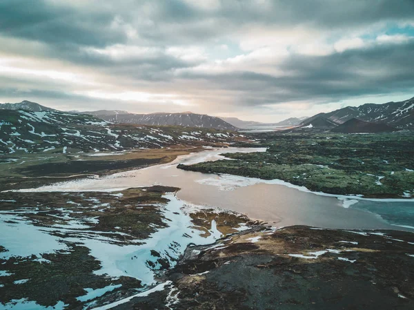
M 205 146 L 240 139 L 244 136 L 233 131 L 111 124 L 91 115 L 75 113 L 28 110 L 2 110 L 0 113 L 0 154 L 122 151 L 177 144 Z

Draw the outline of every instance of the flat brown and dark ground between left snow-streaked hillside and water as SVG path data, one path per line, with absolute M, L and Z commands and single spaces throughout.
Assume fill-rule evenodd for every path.
M 108 175 L 172 162 L 179 155 L 201 151 L 193 146 L 107 153 L 0 155 L 0 191 Z

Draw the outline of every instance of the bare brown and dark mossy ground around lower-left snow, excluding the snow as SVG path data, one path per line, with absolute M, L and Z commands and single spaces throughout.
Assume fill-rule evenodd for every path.
M 39 229 L 48 229 L 50 235 L 55 235 L 68 248 L 43 253 L 41 257 L 32 255 L 0 259 L 0 270 L 10 273 L 0 275 L 0 307 L 12 300 L 26 298 L 44 307 L 62 301 L 68 305 L 66 309 L 83 309 L 85 302 L 77 298 L 86 294 L 85 288 L 101 289 L 118 284 L 121 287 L 88 302 L 97 301 L 99 305 L 137 293 L 136 290 L 142 286 L 136 278 L 110 278 L 95 274 L 101 269 L 101 262 L 90 254 L 88 247 L 73 242 L 73 239 L 105 238 L 119 246 L 139 245 L 155 231 L 168 226 L 168 219 L 164 216 L 168 200 L 164 193 L 177 190 L 174 187 L 151 186 L 110 193 L 0 193 L 2 213 L 13 215 L 17 220 L 24 220 Z M 210 234 L 208 229 L 213 220 L 223 235 L 235 233 L 235 228 L 251 223 L 243 215 L 217 213 L 211 209 L 200 209 L 189 215 L 193 219 L 192 228 L 200 231 L 201 235 L 204 233 L 205 237 Z M 7 253 L 7 249 L 0 246 L 0 252 Z M 157 271 L 162 273 L 170 269 L 170 263 L 160 253 L 151 251 L 151 255 L 158 258 Z M 148 264 L 151 262 L 148 261 Z M 26 279 L 27 282 L 15 283 Z

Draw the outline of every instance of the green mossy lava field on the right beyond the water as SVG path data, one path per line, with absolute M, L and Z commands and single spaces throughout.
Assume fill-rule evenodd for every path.
M 235 160 L 181 164 L 178 168 L 283 180 L 334 195 L 378 198 L 414 195 L 411 133 L 262 133 L 255 137 L 261 141 L 249 146 L 268 146 L 266 152 L 224 154 Z

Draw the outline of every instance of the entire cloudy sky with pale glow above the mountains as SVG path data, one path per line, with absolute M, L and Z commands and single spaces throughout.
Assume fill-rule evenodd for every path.
M 414 97 L 414 0 L 1 0 L 0 102 L 277 122 Z

